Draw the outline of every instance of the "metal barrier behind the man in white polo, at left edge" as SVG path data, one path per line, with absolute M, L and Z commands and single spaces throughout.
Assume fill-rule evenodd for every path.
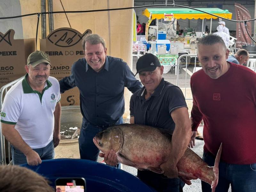
M 12 81 L 11 83 L 8 83 L 4 85 L 0 89 L 0 114 L 2 112 L 2 106 L 3 106 L 3 101 L 4 101 L 4 93 L 9 90 L 8 88 L 12 87 L 15 83 L 23 79 L 24 76 L 20 77 L 19 79 L 16 79 Z M 5 143 L 4 143 L 4 135 L 2 134 L 2 126 L 0 123 L 0 165 L 6 164 L 6 156 L 5 156 Z M 11 152 L 10 152 L 10 143 L 8 142 L 8 164 L 10 164 L 10 159 L 11 159 Z

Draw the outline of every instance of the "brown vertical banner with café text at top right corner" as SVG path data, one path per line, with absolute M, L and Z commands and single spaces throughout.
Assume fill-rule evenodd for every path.
M 236 20 L 250 20 L 251 15 L 249 11 L 241 4 L 235 3 Z M 248 33 L 252 34 L 251 22 L 247 22 Z M 236 23 L 236 48 L 242 48 L 244 44 L 251 44 L 252 40 L 245 29 L 244 23 Z

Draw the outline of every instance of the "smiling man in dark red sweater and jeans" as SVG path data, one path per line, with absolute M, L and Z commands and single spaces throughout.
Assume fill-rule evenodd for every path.
M 198 41 L 202 68 L 191 76 L 193 108 L 191 123 L 196 130 L 204 120 L 203 160 L 214 165 L 223 143 L 216 192 L 256 191 L 256 73 L 243 65 L 227 62 L 228 49 L 220 36 Z M 202 181 L 202 191 L 211 186 Z

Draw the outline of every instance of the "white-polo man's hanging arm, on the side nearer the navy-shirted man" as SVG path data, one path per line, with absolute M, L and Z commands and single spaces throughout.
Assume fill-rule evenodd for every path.
M 53 130 L 53 143 L 54 148 L 59 145 L 60 142 L 60 114 L 61 114 L 61 106 L 60 102 L 58 102 L 55 106 L 54 115 L 54 130 Z

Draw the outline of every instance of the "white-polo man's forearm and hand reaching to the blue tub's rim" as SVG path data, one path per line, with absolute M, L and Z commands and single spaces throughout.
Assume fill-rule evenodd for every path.
M 29 165 L 38 165 L 42 163 L 38 153 L 31 149 L 28 144 L 21 138 L 20 133 L 14 128 L 13 124 L 2 123 L 2 132 L 4 137 L 26 157 Z

